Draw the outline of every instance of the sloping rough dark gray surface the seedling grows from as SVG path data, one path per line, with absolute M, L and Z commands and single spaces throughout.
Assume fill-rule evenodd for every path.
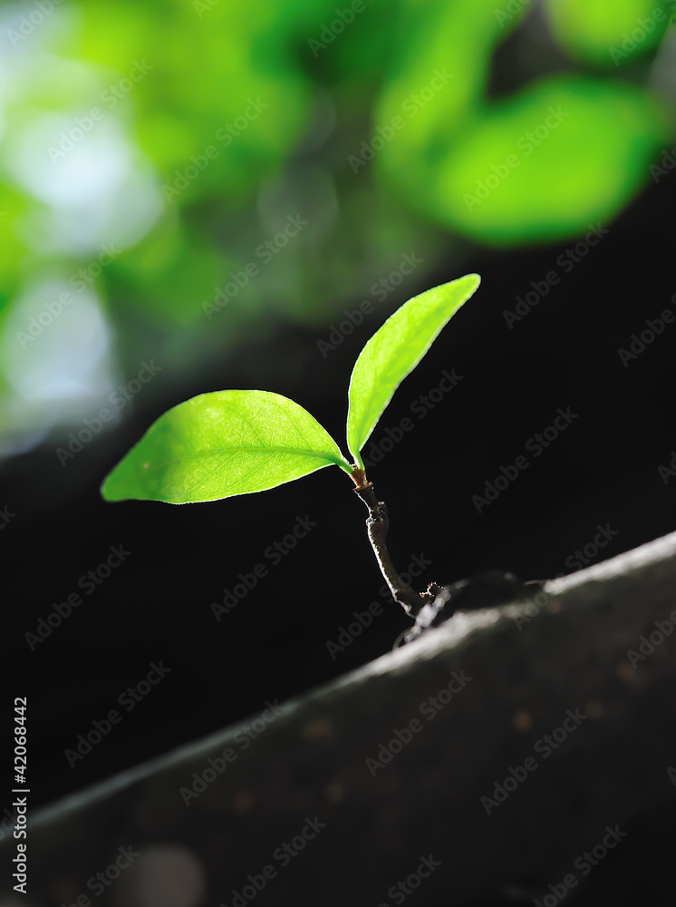
M 246 752 L 229 729 L 44 811 L 31 829 L 29 901 L 70 904 L 89 891 L 97 907 L 241 907 L 253 897 L 233 890 L 271 865 L 256 905 L 391 904 L 400 902 L 391 885 L 430 854 L 440 866 L 415 893 L 419 905 L 468 903 L 509 882 L 546 892 L 606 825 L 672 805 L 676 633 L 635 668 L 627 651 L 676 610 L 676 534 L 546 589 L 546 603 L 458 615 L 298 699 Z M 435 711 L 429 697 L 454 672 L 471 680 Z M 545 735 L 569 711 L 577 721 L 547 753 Z M 420 731 L 370 769 L 366 759 L 412 719 Z M 185 805 L 180 788 L 227 746 L 237 759 Z M 508 782 L 516 789 L 488 814 L 481 798 L 510 767 L 523 775 L 528 757 L 536 767 Z M 314 839 L 293 858 L 275 857 L 315 816 L 325 827 Z M 186 862 L 171 883 L 176 900 L 141 896 L 158 848 L 177 844 L 197 858 L 203 895 L 178 897 Z M 140 857 L 93 896 L 88 879 L 127 845 Z

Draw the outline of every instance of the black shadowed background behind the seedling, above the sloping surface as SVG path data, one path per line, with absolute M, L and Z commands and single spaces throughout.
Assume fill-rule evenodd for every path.
M 618 534 L 592 561 L 674 529 L 672 483 L 658 466 L 676 446 L 668 377 L 676 325 L 628 367 L 618 355 L 646 318 L 674 310 L 673 203 L 673 178 L 646 190 L 511 330 L 503 311 L 515 310 L 530 280 L 561 271 L 555 258 L 570 244 L 473 250 L 468 270 L 483 275 L 478 294 L 373 434 L 380 442 L 410 415 L 443 369 L 463 376 L 424 420 L 412 417 L 416 430 L 369 473 L 390 508 L 401 570 L 422 554 L 432 561 L 425 581 L 492 568 L 544 579 L 570 572 L 566 559 L 594 541 L 598 524 Z M 445 277 L 440 270 L 432 283 Z M 393 294 L 391 309 L 405 297 Z M 367 318 L 325 360 L 314 334 L 280 329 L 205 370 L 180 396 L 264 387 L 293 397 L 340 437 L 353 361 L 380 320 Z M 151 406 L 140 401 L 123 429 L 95 439 L 66 467 L 45 448 L 4 464 L 2 500 L 16 513 L 2 537 L 17 665 L 8 695 L 29 699 L 33 805 L 253 715 L 266 699 L 282 702 L 338 677 L 388 651 L 408 626 L 397 605 L 379 599 L 366 512 L 337 469 L 224 502 L 102 502 L 102 476 L 178 399 L 170 375 L 160 381 L 164 393 Z M 528 469 L 479 514 L 471 496 L 566 406 L 578 414 L 573 424 L 541 456 L 531 454 Z M 272 567 L 264 551 L 306 514 L 316 528 Z M 127 561 L 31 651 L 24 633 L 119 543 L 131 551 Z M 258 562 L 268 576 L 217 621 L 212 602 Z M 352 612 L 372 600 L 383 602 L 383 614 L 332 659 L 326 641 L 337 642 Z M 171 669 L 167 678 L 130 713 L 119 708 L 121 724 L 71 768 L 64 749 L 159 659 Z

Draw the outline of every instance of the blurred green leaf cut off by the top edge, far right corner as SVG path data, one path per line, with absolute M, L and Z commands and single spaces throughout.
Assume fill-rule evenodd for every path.
M 545 0 L 555 35 L 576 57 L 619 66 L 662 41 L 673 9 L 660 0 Z

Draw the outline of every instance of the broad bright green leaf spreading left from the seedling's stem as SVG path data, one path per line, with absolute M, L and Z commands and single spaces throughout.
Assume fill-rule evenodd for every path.
M 101 493 L 107 501 L 216 501 L 332 463 L 352 472 L 333 438 L 293 400 L 268 391 L 217 391 L 160 415 Z

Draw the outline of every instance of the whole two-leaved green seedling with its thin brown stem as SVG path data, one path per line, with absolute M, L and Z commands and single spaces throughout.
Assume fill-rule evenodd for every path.
M 366 478 L 361 452 L 396 389 L 479 282 L 478 274 L 468 274 L 409 299 L 363 347 L 348 394 L 352 464 L 322 425 L 293 400 L 269 391 L 216 391 L 161 415 L 108 475 L 101 486 L 103 497 L 174 504 L 217 501 L 338 466 L 368 507 L 369 539 L 393 599 L 416 615 L 440 587 L 430 583 L 419 594 L 401 581 L 386 546 L 387 509 Z

